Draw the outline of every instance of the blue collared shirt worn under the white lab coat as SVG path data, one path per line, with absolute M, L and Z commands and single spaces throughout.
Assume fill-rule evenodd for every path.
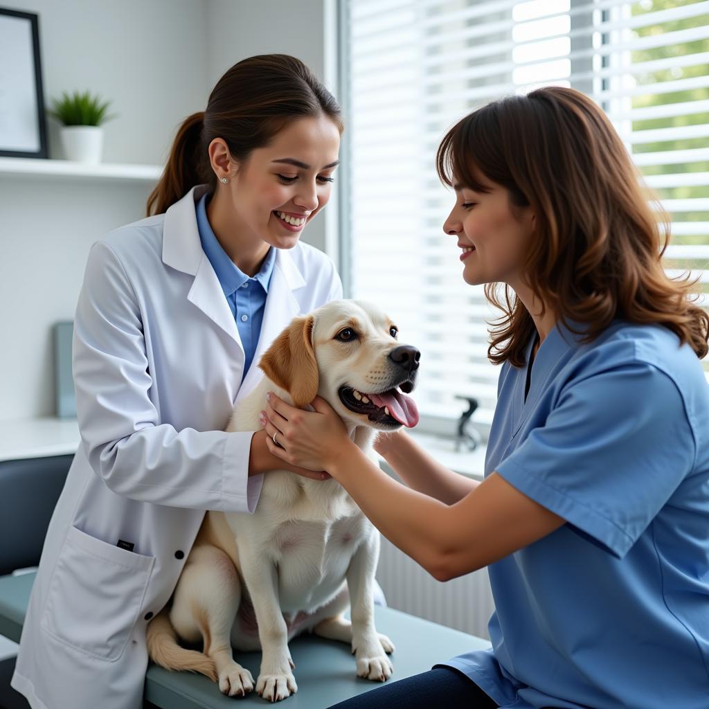
M 259 341 L 268 286 L 271 281 L 274 263 L 276 262 L 276 250 L 271 247 L 266 259 L 264 259 L 261 270 L 255 276 L 248 277 L 228 257 L 214 235 L 207 219 L 207 196 L 207 194 L 203 195 L 196 206 L 199 240 L 202 242 L 202 249 L 212 264 L 214 272 L 217 274 L 219 284 L 236 320 L 236 327 L 239 330 L 239 337 L 241 337 L 245 355 L 243 381 L 254 359 L 256 345 Z

